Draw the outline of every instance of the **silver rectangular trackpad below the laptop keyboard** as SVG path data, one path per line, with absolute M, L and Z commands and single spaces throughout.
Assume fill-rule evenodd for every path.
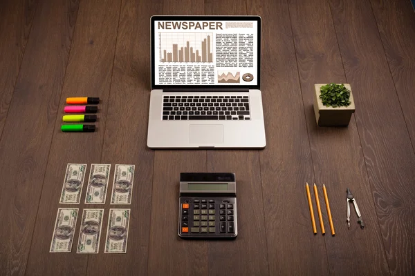
M 190 125 L 190 144 L 223 144 L 223 125 Z

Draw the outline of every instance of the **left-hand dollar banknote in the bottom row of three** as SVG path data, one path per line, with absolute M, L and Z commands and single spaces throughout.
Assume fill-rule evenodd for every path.
M 55 230 L 52 242 L 50 242 L 51 253 L 69 253 L 72 250 L 73 233 L 75 232 L 78 208 L 57 209 Z

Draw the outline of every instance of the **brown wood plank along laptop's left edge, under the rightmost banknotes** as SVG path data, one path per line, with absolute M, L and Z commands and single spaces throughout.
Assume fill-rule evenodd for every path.
M 136 166 L 131 205 L 110 205 L 109 199 L 105 204 L 105 221 L 110 208 L 131 209 L 128 246 L 126 254 L 104 254 L 106 222 L 102 254 L 89 257 L 86 275 L 147 275 L 154 164 L 154 152 L 146 147 L 150 86 L 148 14 L 158 14 L 160 8 L 160 1 L 121 3 L 102 161 L 114 166 Z

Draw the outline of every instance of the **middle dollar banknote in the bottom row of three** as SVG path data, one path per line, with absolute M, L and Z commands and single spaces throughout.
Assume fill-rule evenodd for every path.
M 104 209 L 84 209 L 76 253 L 98 253 L 103 218 Z

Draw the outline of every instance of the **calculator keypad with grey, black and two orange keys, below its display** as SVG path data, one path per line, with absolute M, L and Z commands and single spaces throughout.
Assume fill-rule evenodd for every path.
M 181 237 L 236 237 L 236 198 L 180 198 Z

